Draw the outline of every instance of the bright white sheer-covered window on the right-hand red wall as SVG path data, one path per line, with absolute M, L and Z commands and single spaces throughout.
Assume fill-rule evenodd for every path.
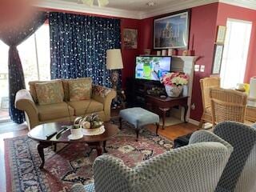
M 222 87 L 232 88 L 243 83 L 250 44 L 252 22 L 228 18 L 222 57 Z

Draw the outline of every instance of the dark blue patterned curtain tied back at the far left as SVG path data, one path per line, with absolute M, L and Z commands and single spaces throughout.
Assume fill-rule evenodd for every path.
M 38 30 L 39 26 L 46 21 L 46 13 L 36 13 L 30 21 L 26 22 L 26 25 L 18 28 L 0 30 L 0 39 L 10 46 L 8 69 L 9 69 L 9 115 L 10 119 L 16 123 L 22 123 L 25 120 L 24 112 L 18 110 L 14 106 L 15 95 L 18 90 L 25 89 L 25 80 L 22 70 L 22 62 L 19 58 L 17 46 L 24 42 L 26 38 L 34 34 Z

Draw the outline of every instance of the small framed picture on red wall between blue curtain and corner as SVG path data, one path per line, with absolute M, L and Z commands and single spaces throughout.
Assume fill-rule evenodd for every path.
M 124 29 L 123 44 L 125 49 L 137 49 L 138 48 L 138 30 Z

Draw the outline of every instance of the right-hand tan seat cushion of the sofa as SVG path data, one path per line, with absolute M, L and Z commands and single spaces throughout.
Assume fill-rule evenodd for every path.
M 76 116 L 92 114 L 103 110 L 103 104 L 96 102 L 94 99 L 68 102 L 68 104 L 74 109 L 74 115 Z

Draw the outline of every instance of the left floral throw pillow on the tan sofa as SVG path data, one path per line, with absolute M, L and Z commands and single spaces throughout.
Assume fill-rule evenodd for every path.
M 64 91 L 62 82 L 35 83 L 39 105 L 63 102 Z

